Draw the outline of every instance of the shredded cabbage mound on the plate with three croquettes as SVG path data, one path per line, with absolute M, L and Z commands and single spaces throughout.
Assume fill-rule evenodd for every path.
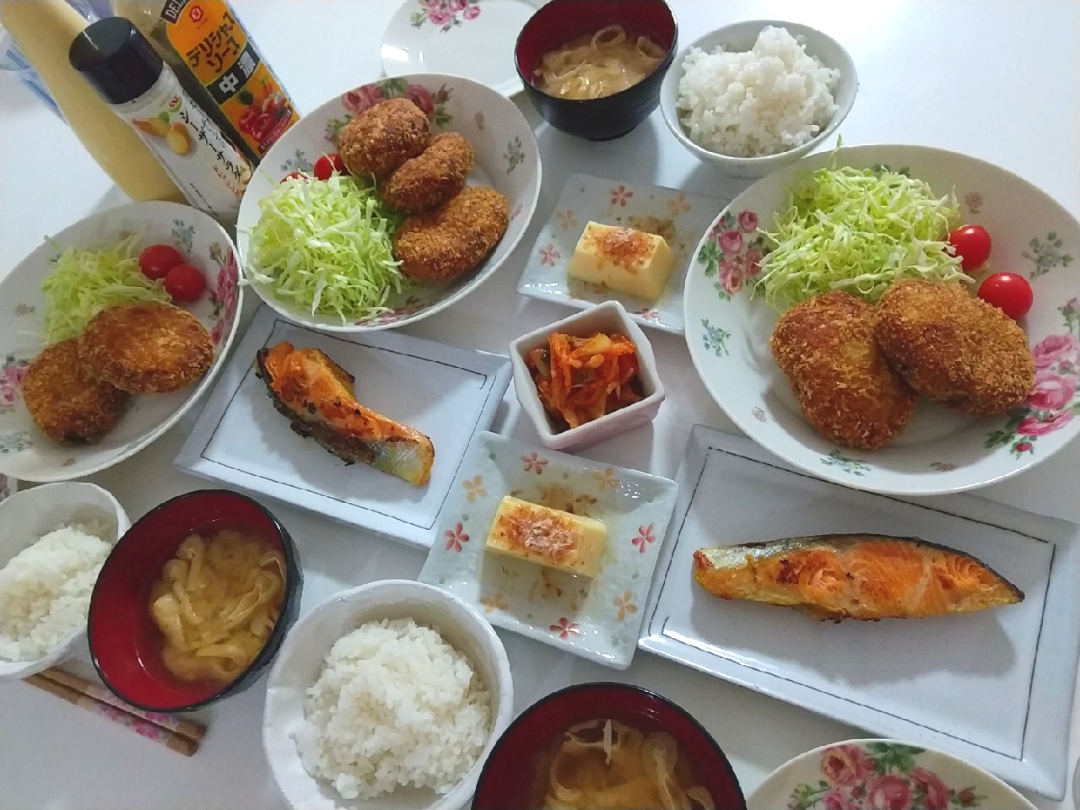
M 387 312 L 390 295 L 408 285 L 391 243 L 402 218 L 374 184 L 291 177 L 259 201 L 259 212 L 252 276 L 283 302 L 348 323 Z

